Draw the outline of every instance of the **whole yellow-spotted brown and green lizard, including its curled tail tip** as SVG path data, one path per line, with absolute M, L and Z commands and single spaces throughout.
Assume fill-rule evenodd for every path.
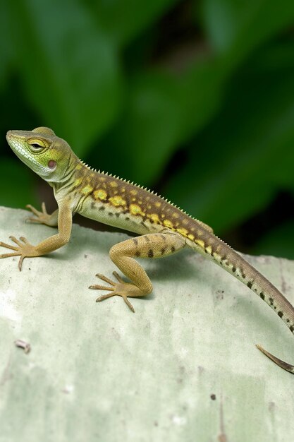
M 8 131 L 6 140 L 18 158 L 53 188 L 58 205 L 49 215 L 44 203 L 42 211 L 29 204 L 27 208 L 35 216 L 28 220 L 58 227 L 58 233 L 36 246 L 25 237 L 11 236 L 13 244 L 0 241 L 1 247 L 10 250 L 0 258 L 20 256 L 18 268 L 21 270 L 24 258 L 42 256 L 61 248 L 71 237 L 73 215 L 80 213 L 139 235 L 115 244 L 109 251 L 111 261 L 129 282 L 116 271 L 113 272 L 116 281 L 97 273 L 96 276 L 108 286 L 95 284 L 89 288 L 108 293 L 96 301 L 118 295 L 130 310 L 135 311 L 128 298 L 145 296 L 153 289 L 147 273 L 135 258 L 162 258 L 190 247 L 247 285 L 276 311 L 294 334 L 294 308 L 290 302 L 240 253 L 216 237 L 204 222 L 190 217 L 153 191 L 92 169 L 73 153 L 65 140 L 47 127 Z M 294 374 L 293 365 L 278 359 L 262 346 L 257 347 L 282 369 Z

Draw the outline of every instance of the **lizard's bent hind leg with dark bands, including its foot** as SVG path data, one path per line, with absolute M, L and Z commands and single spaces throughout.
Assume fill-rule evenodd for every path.
M 96 301 L 118 295 L 123 297 L 132 311 L 135 311 L 130 301 L 128 301 L 128 297 L 145 296 L 151 293 L 153 288 L 147 273 L 134 258 L 162 258 L 183 249 L 184 246 L 185 239 L 174 232 L 146 234 L 120 242 L 111 247 L 109 256 L 111 261 L 131 282 L 123 281 L 116 272 L 114 272 L 114 276 L 118 282 L 113 282 L 98 273 L 96 276 L 108 282 L 110 287 L 91 285 L 89 288 L 110 290 L 108 294 L 98 297 Z

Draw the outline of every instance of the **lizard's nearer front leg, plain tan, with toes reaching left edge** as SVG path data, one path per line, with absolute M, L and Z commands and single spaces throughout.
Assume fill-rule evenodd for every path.
M 4 253 L 0 255 L 0 258 L 7 258 L 8 256 L 20 256 L 18 261 L 18 268 L 21 270 L 24 258 L 30 256 L 42 256 L 51 251 L 57 250 L 64 246 L 71 237 L 71 226 L 72 226 L 72 211 L 69 203 L 67 201 L 62 201 L 59 204 L 59 215 L 58 215 L 58 228 L 59 232 L 44 241 L 34 246 L 30 244 L 25 237 L 10 237 L 11 240 L 16 244 L 16 246 L 11 244 L 6 244 L 0 241 L 1 247 L 6 247 L 6 249 L 11 249 L 13 252 Z

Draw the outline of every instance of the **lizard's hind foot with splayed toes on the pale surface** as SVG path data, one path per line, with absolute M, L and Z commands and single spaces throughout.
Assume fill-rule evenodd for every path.
M 97 273 L 97 277 L 99 277 L 100 280 L 108 282 L 111 287 L 106 287 L 105 285 L 90 285 L 90 289 L 98 289 L 98 290 L 110 290 L 109 293 L 104 294 L 96 299 L 96 302 L 102 301 L 103 299 L 113 297 L 115 295 L 121 296 L 123 300 L 125 301 L 125 304 L 129 306 L 131 311 L 135 313 L 135 309 L 130 304 L 130 301 L 128 300 L 128 296 L 137 296 L 136 294 L 133 294 L 135 290 L 138 290 L 138 288 L 130 284 L 129 282 L 125 282 L 116 272 L 113 272 L 114 277 L 118 280 L 118 282 L 114 282 L 110 280 L 108 277 L 101 275 L 100 273 Z M 135 290 L 134 290 L 135 289 Z

